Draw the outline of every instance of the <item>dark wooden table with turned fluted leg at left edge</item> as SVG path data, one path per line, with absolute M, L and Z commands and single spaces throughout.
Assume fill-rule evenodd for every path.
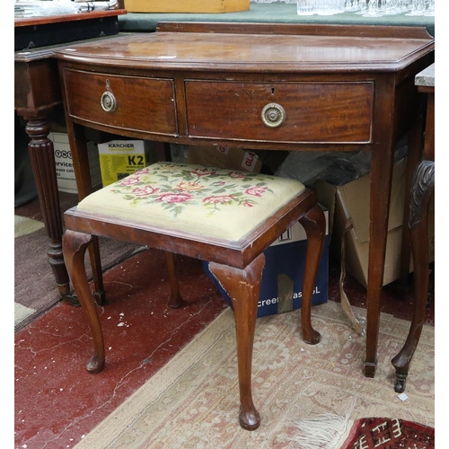
M 27 121 L 31 165 L 49 239 L 48 262 L 63 297 L 70 293 L 70 285 L 62 254 L 55 154 L 48 139 L 48 115 L 62 99 L 57 61 L 51 56 L 67 41 L 117 34 L 118 15 L 124 13 L 111 10 L 14 21 L 14 109 Z

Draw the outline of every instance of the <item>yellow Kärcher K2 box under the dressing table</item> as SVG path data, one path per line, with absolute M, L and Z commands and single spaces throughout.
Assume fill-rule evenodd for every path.
M 103 187 L 154 162 L 154 143 L 146 140 L 111 140 L 98 151 Z

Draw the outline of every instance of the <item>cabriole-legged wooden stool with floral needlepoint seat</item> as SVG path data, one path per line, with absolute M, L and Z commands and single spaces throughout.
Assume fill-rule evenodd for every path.
M 154 163 L 67 210 L 64 258 L 93 336 L 88 371 L 98 373 L 105 364 L 101 322 L 84 268 L 84 253 L 98 236 L 166 251 L 172 307 L 181 304 L 172 255 L 208 260 L 233 301 L 240 425 L 248 430 L 259 427 L 251 394 L 251 359 L 263 251 L 298 220 L 307 234 L 302 331 L 304 341 L 315 344 L 320 334 L 312 327 L 311 303 L 325 219 L 315 192 L 300 182 L 200 165 Z M 101 270 L 94 277 L 99 293 Z

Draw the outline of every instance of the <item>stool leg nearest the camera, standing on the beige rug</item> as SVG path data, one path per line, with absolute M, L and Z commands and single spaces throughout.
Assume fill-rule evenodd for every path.
M 239 422 L 240 426 L 246 430 L 255 430 L 260 426 L 260 415 L 252 402 L 251 365 L 260 281 L 264 265 L 263 253 L 245 269 L 209 263 L 209 269 L 233 301 L 240 389 Z

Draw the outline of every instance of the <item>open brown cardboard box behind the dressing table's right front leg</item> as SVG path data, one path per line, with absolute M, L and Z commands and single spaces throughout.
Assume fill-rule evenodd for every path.
M 404 158 L 395 163 L 393 167 L 383 286 L 390 284 L 400 276 L 406 163 Z M 330 220 L 333 223 L 330 232 L 330 257 L 340 260 L 341 242 L 345 235 L 347 272 L 365 287 L 368 279 L 370 181 L 371 175 L 366 175 L 343 186 L 332 186 L 324 181 L 318 181 L 315 184 L 321 204 L 327 207 L 335 203 L 334 216 Z M 429 208 L 428 249 L 429 261 L 433 261 L 435 257 L 435 207 L 431 205 Z M 353 228 L 344 234 L 348 220 Z M 411 260 L 409 270 L 413 271 Z

